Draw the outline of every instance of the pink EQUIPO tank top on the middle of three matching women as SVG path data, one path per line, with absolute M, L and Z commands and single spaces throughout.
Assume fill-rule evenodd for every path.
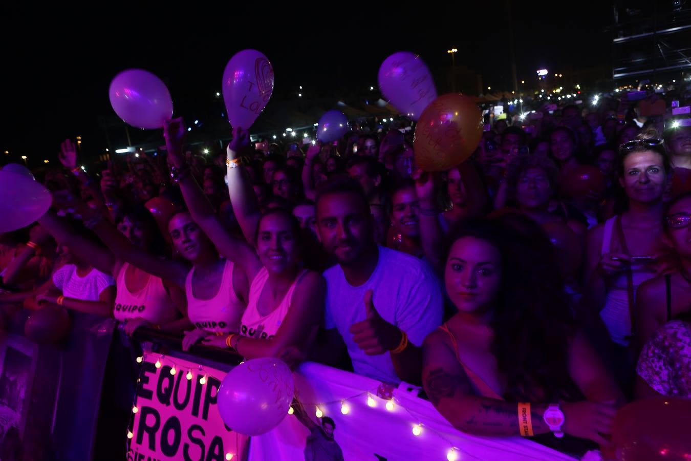
M 211 299 L 198 299 L 192 291 L 194 268 L 187 274 L 184 292 L 187 294 L 187 317 L 197 328 L 213 332 L 236 332 L 240 329 L 240 319 L 245 312 L 245 304 L 238 299 L 233 289 L 233 269 L 231 261 L 225 261 L 223 278 L 216 296 Z

